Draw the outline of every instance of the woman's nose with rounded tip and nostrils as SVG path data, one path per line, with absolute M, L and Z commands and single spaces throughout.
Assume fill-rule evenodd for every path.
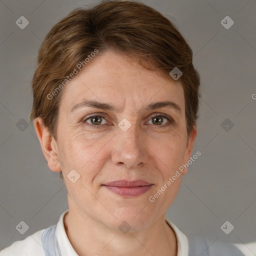
M 118 129 L 111 153 L 113 163 L 127 169 L 143 167 L 148 159 L 148 148 L 144 140 L 145 135 L 135 124 L 126 131 Z

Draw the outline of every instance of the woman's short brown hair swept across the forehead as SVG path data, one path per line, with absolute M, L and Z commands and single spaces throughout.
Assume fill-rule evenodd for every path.
M 142 66 L 160 71 L 182 71 L 187 134 L 196 123 L 199 74 L 192 64 L 192 50 L 174 25 L 155 9 L 133 1 L 103 1 L 87 9 L 76 8 L 57 22 L 38 50 L 32 78 L 33 105 L 30 121 L 41 117 L 51 136 L 57 139 L 58 108 L 63 90 L 48 99 L 77 63 L 95 49 L 103 54 L 114 50 Z M 96 56 L 95 56 L 96 57 Z

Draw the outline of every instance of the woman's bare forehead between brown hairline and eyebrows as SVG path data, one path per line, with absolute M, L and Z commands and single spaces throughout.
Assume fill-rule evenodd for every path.
M 66 110 L 83 99 L 94 99 L 124 107 L 149 101 L 172 100 L 184 111 L 183 88 L 130 58 L 112 51 L 97 55 L 64 87 L 61 103 Z M 64 104 L 63 104 L 64 102 Z

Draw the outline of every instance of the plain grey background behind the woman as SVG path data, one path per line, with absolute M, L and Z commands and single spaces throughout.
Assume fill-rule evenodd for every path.
M 57 222 L 67 209 L 63 180 L 52 172 L 32 123 L 30 81 L 38 47 L 50 28 L 75 7 L 99 1 L 0 0 L 0 249 Z M 233 243 L 256 238 L 255 0 L 146 0 L 169 18 L 194 52 L 201 77 L 197 138 L 191 164 L 167 212 L 187 235 Z M 20 29 L 15 21 L 25 16 Z M 225 29 L 220 21 L 230 16 Z M 233 127 L 221 123 L 228 118 Z M 230 127 L 230 126 L 229 126 Z M 29 229 L 19 234 L 15 226 Z M 220 226 L 230 221 L 227 235 Z M 254 253 L 256 253 L 254 251 Z

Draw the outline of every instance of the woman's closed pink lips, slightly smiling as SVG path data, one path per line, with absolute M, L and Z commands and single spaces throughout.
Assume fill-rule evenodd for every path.
M 119 195 L 136 196 L 146 192 L 152 186 L 142 179 L 128 181 L 128 180 L 115 180 L 103 184 L 106 188 Z

